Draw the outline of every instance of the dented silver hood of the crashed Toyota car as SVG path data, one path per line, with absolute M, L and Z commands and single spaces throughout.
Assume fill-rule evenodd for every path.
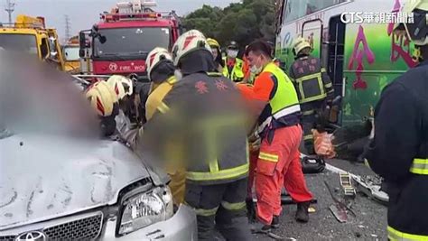
M 1 139 L 0 230 L 115 204 L 121 189 L 149 173 L 126 146 L 110 140 Z

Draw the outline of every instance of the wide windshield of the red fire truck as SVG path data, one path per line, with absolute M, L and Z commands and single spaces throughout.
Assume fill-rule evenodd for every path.
M 155 47 L 168 49 L 170 45 L 169 28 L 102 29 L 99 33 L 106 37 L 106 42 L 94 40 L 94 54 L 98 57 L 146 54 Z

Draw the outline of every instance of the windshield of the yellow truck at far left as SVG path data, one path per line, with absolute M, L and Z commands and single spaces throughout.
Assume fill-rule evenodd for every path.
M 0 34 L 0 50 L 23 51 L 37 54 L 37 41 L 32 34 Z

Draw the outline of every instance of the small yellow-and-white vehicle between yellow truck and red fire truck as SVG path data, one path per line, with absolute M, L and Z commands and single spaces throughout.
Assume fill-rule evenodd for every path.
M 70 74 L 79 74 L 81 72 L 79 49 L 79 36 L 71 37 L 62 47 L 65 71 Z

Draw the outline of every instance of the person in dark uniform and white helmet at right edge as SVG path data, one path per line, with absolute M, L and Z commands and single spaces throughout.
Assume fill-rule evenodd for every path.
M 383 89 L 366 158 L 386 181 L 389 240 L 428 240 L 428 1 L 407 1 L 400 13 L 414 21 L 395 34 L 414 42 L 420 61 Z

